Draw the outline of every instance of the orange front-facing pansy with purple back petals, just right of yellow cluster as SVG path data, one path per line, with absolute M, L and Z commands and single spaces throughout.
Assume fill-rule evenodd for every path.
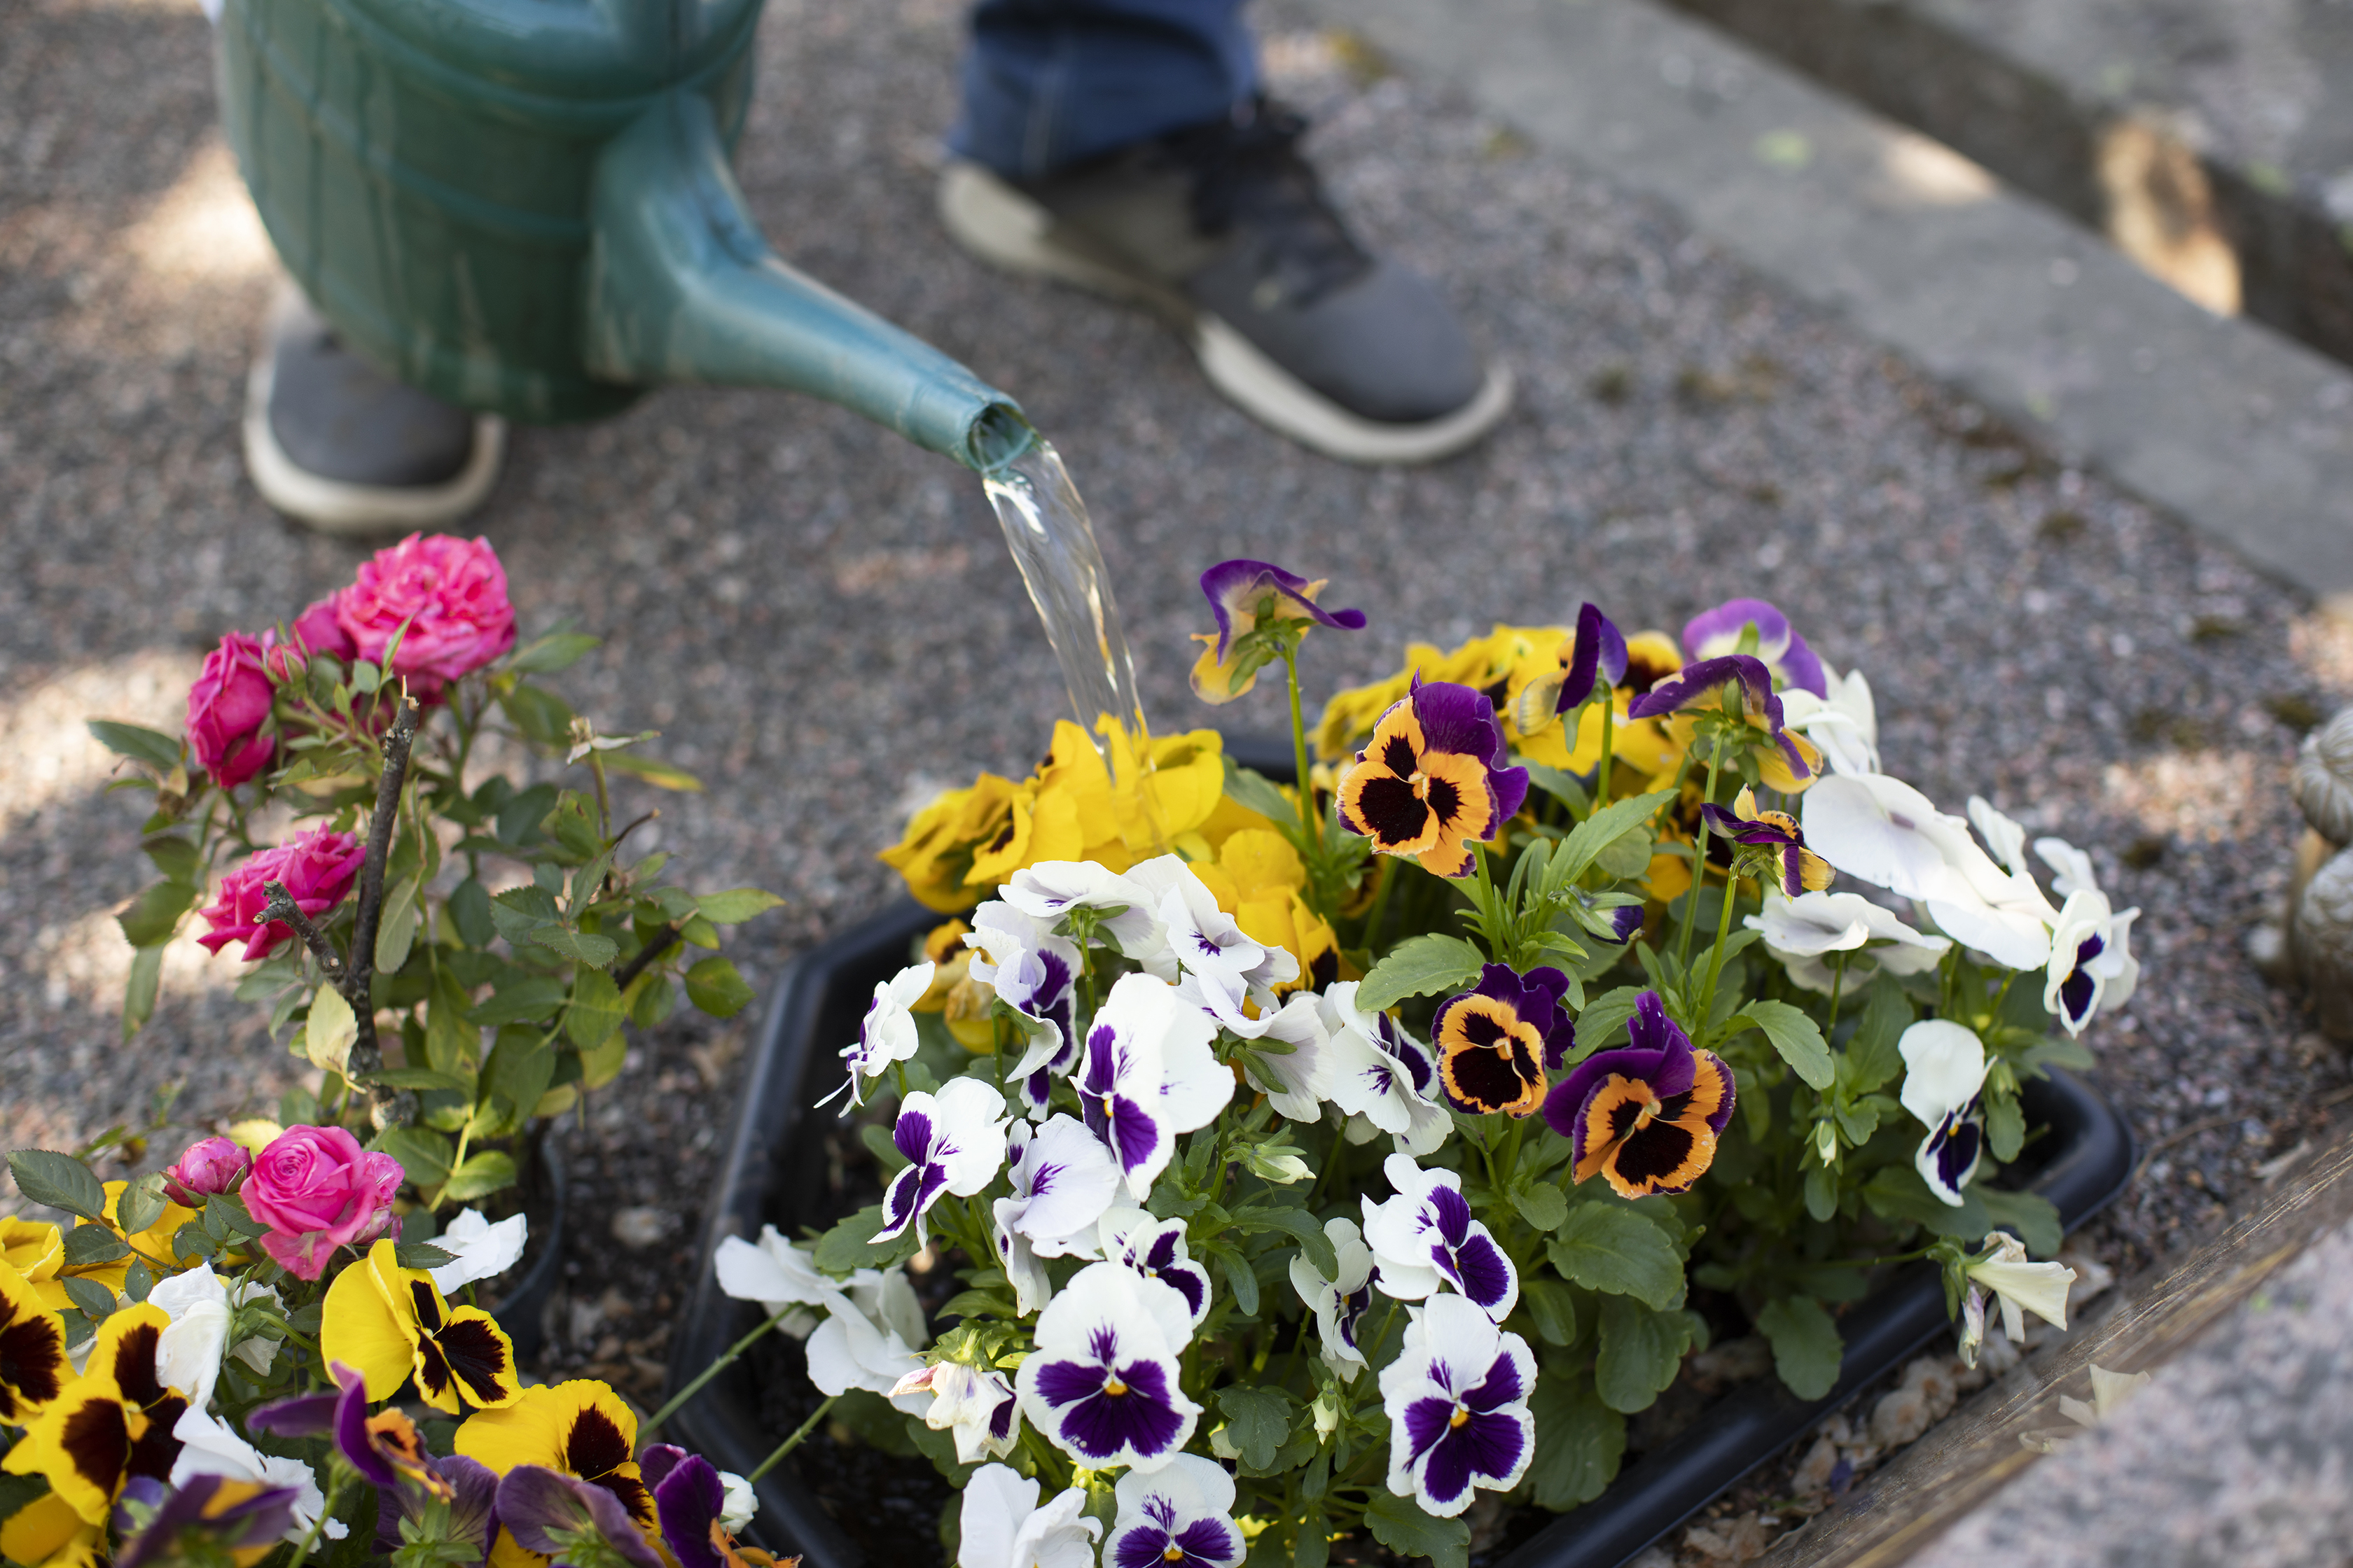
M 1527 769 L 1499 769 L 1504 726 L 1471 686 L 1424 682 L 1388 705 L 1339 780 L 1339 823 L 1384 856 L 1414 856 L 1433 877 L 1466 877 L 1527 799 Z

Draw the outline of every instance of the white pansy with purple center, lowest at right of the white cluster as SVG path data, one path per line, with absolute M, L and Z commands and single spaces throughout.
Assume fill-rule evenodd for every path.
M 1459 1295 L 1414 1307 L 1405 1349 L 1381 1368 L 1388 1490 L 1452 1519 L 1478 1488 L 1508 1493 L 1537 1450 L 1527 1396 L 1537 1359 Z

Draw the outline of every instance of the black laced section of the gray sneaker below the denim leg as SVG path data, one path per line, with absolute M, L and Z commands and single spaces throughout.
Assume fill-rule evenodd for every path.
M 1162 141 L 1193 174 L 1193 226 L 1205 235 L 1235 228 L 1259 240 L 1259 284 L 1292 303 L 1353 282 L 1372 266 L 1322 181 L 1299 153 L 1308 122 L 1271 99 L 1254 99 L 1231 120 L 1188 127 Z

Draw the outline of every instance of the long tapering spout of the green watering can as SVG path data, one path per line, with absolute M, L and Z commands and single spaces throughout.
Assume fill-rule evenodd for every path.
M 605 146 L 588 226 L 584 348 L 600 378 L 809 393 L 979 473 L 1035 440 L 1005 393 L 769 249 L 696 92 Z

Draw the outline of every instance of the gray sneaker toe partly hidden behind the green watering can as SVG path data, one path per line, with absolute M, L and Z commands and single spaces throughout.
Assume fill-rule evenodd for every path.
M 285 287 L 245 383 L 245 473 L 322 534 L 438 529 L 482 505 L 506 425 L 454 409 L 355 355 Z

